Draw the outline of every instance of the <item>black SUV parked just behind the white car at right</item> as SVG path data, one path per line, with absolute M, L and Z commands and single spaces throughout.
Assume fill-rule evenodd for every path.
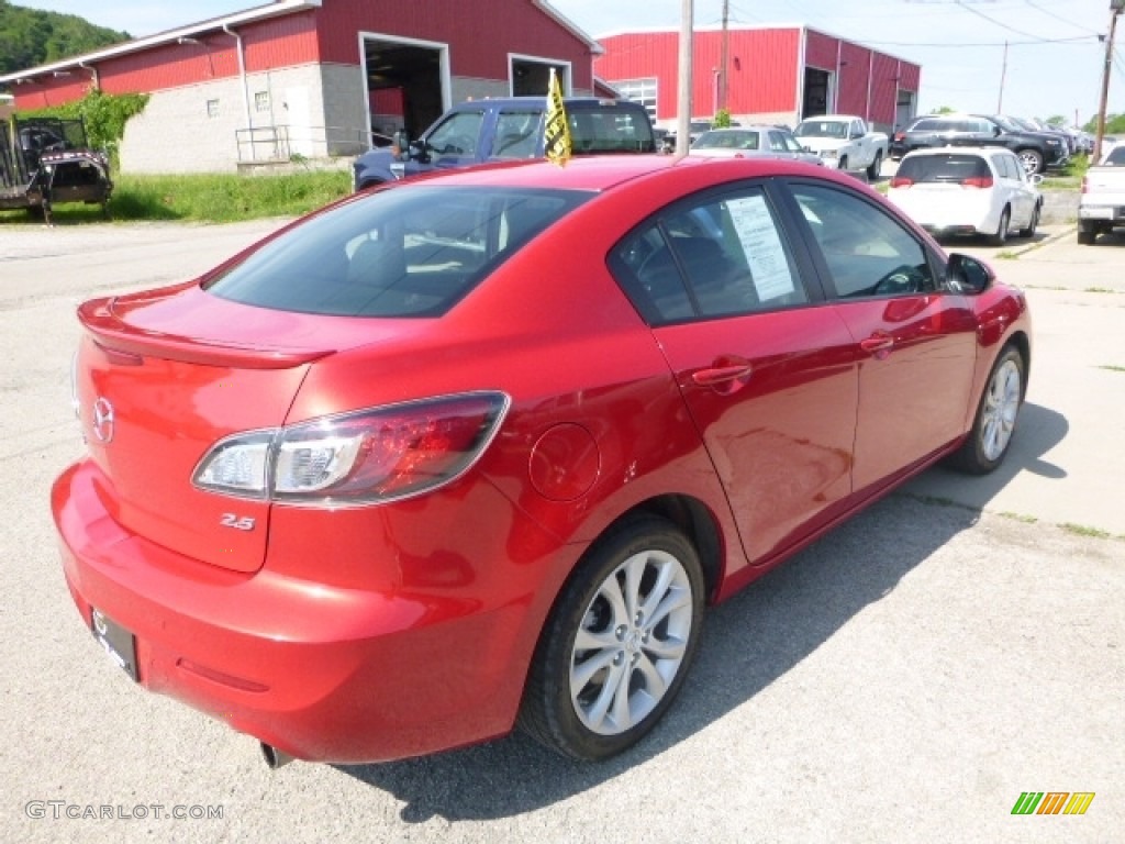
M 1066 145 L 1053 135 L 1025 132 L 1001 117 L 928 115 L 894 135 L 897 154 L 934 146 L 1002 146 L 1019 156 L 1028 174 L 1065 163 Z

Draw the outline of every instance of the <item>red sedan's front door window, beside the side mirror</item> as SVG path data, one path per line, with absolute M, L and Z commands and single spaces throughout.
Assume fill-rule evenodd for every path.
M 814 185 L 794 185 L 793 196 L 820 246 L 837 296 L 937 289 L 926 250 L 885 212 L 852 194 Z

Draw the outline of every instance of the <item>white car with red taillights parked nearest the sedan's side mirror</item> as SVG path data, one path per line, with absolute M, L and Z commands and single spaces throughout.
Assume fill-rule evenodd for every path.
M 1035 234 L 1041 179 L 1028 177 L 1015 153 L 999 146 L 916 150 L 902 159 L 886 198 L 932 234 L 983 234 L 1000 246 L 1009 230 L 1020 237 Z

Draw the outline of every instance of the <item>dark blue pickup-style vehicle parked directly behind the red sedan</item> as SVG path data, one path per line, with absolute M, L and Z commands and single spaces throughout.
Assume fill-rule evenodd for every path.
M 629 100 L 564 100 L 575 155 L 657 151 L 652 122 Z M 352 165 L 356 190 L 439 168 L 543 155 L 546 97 L 470 100 L 453 106 L 417 141 L 396 135 L 390 147 L 363 153 Z

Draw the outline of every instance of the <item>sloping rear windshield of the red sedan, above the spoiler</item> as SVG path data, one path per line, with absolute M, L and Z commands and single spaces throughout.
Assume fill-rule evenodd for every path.
M 264 244 L 206 289 L 306 314 L 440 316 L 590 196 L 422 185 L 384 190 Z

